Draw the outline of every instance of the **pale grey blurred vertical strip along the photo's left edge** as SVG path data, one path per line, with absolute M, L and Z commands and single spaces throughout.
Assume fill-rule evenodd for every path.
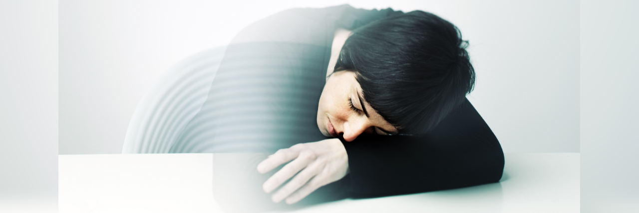
M 0 1 L 0 212 L 57 207 L 57 9 Z

